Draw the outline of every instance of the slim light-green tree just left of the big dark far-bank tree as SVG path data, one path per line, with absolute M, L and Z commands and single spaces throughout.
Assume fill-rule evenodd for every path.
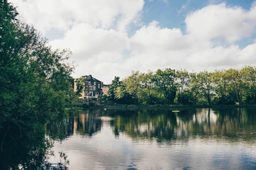
M 145 91 L 146 95 L 148 96 L 148 103 L 152 104 L 152 95 L 155 88 L 153 71 L 148 70 L 147 73 L 141 73 L 139 79 L 141 82 L 142 90 Z

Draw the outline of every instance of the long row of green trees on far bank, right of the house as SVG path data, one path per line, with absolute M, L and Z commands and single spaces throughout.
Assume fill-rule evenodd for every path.
M 256 104 L 256 67 L 206 70 L 170 68 L 115 77 L 102 99 L 119 104 L 234 105 Z

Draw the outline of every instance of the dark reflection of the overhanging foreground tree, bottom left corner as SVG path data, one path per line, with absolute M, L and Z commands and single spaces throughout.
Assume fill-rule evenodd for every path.
M 57 164 L 48 161 L 55 153 L 51 151 L 53 140 L 45 136 L 45 124 L 13 123 L 7 127 L 0 129 L 0 169 L 68 169 L 69 161 L 63 152 L 59 152 L 61 160 Z

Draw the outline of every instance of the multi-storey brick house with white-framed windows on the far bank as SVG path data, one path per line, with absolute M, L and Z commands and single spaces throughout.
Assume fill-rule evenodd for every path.
M 85 87 L 80 93 L 80 99 L 98 98 L 102 96 L 101 81 L 92 77 L 92 75 L 85 75 Z M 74 82 L 74 91 L 76 91 L 76 81 Z

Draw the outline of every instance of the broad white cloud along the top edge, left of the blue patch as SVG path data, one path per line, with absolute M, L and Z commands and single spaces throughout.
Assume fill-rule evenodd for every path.
M 73 24 L 125 31 L 139 16 L 143 0 L 11 0 L 20 14 L 43 33 L 50 29 L 67 31 Z

